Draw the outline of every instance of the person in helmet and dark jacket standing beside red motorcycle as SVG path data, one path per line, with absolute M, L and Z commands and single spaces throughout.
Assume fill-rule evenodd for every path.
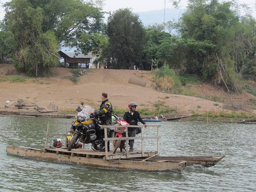
M 141 119 L 139 112 L 135 111 L 137 104 L 135 102 L 130 102 L 128 104 L 129 111 L 124 113 L 123 119 L 126 120 L 130 125 L 138 125 L 138 120 L 147 127 L 147 124 Z M 128 127 L 128 137 L 135 137 L 136 127 Z M 134 146 L 134 139 L 129 140 L 129 151 L 132 152 Z

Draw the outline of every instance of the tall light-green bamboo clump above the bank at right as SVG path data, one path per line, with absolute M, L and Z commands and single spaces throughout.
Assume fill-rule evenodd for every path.
M 224 85 L 227 90 L 237 90 L 230 46 L 238 24 L 239 15 L 231 2 L 189 0 L 180 27 L 188 48 L 187 72 L 202 75 L 203 79 Z

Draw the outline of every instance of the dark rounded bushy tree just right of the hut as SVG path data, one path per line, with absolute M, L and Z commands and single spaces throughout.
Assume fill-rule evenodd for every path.
M 119 9 L 108 18 L 109 55 L 117 69 L 141 67 L 145 30 L 139 16 L 129 9 Z

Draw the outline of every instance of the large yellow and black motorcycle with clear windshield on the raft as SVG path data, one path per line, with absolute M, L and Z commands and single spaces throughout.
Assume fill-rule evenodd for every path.
M 83 106 L 84 103 L 81 102 L 81 105 Z M 68 143 L 67 151 L 75 148 L 79 141 L 85 144 L 91 143 L 93 150 L 105 150 L 105 142 L 101 134 L 104 128 L 99 116 L 93 115 L 95 110 L 90 106 L 83 106 L 83 109 L 78 106 L 76 111 L 77 119 L 72 122 L 74 135 Z

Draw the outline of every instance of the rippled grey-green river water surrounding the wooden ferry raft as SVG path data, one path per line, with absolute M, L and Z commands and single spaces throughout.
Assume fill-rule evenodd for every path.
M 44 148 L 47 121 L 66 122 L 69 126 L 72 119 L 0 117 L 0 192 L 256 190 L 255 125 L 159 123 L 161 155 L 226 155 L 216 166 L 189 166 L 182 174 L 103 170 L 6 154 L 6 146 Z M 63 124 L 51 125 L 53 133 L 65 133 L 65 130 Z M 148 128 L 147 133 L 152 135 L 155 128 Z M 155 143 L 148 140 L 145 145 L 154 149 Z M 139 145 L 135 142 L 135 149 Z

